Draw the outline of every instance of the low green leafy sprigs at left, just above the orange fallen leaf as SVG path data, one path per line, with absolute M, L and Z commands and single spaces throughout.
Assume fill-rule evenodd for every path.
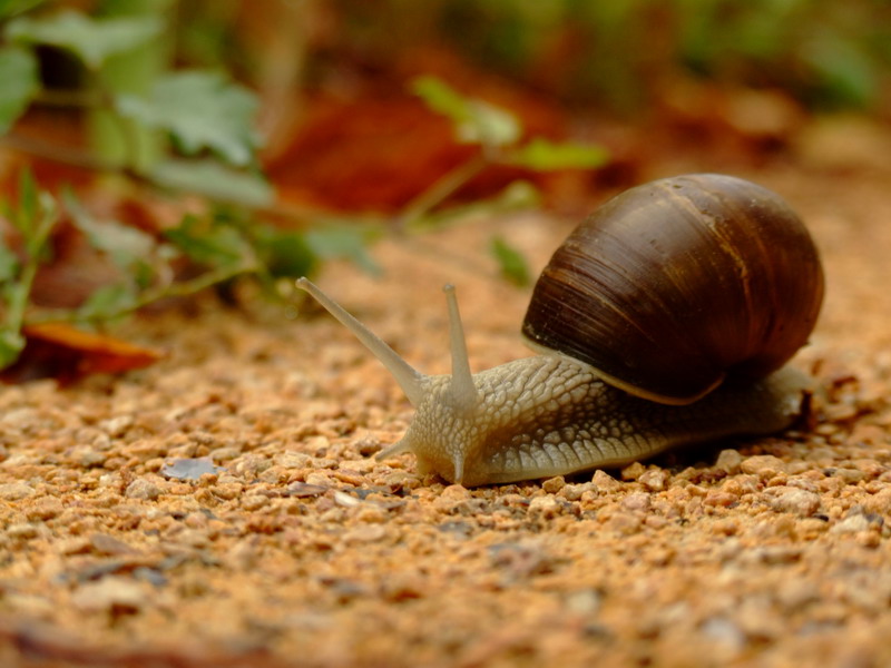
M 363 235 L 329 225 L 307 233 L 258 224 L 243 208 L 219 206 L 209 216 L 186 215 L 159 237 L 111 219 L 96 219 L 66 190 L 57 200 L 22 171 L 17 196 L 0 214 L 12 225 L 12 243 L 0 239 L 0 369 L 25 347 L 28 324 L 68 322 L 98 325 L 129 315 L 159 299 L 196 294 L 251 275 L 275 293 L 281 278 L 312 274 L 320 262 L 347 257 L 368 271 L 374 229 Z M 50 244 L 57 223 L 67 220 L 117 268 L 119 279 L 96 288 L 75 308 L 39 308 L 31 303 L 38 269 L 53 261 Z M 180 276 L 183 267 L 190 267 Z

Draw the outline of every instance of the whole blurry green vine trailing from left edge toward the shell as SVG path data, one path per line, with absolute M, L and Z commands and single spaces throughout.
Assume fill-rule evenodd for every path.
M 379 271 L 368 247 L 388 220 L 358 226 L 320 216 L 310 228 L 294 230 L 258 219 L 256 212 L 273 205 L 274 193 L 256 156 L 261 143 L 252 121 L 257 99 L 218 70 L 170 68 L 165 45 L 170 2 L 100 2 L 135 13 L 97 17 L 30 11 L 43 4 L 39 1 L 0 2 L 0 136 L 32 104 L 84 109 L 92 128 L 92 154 L 81 157 L 81 164 L 139 185 L 198 194 L 207 203 L 205 214 L 187 214 L 175 227 L 150 235 L 96 219 L 72 191 L 53 197 L 23 173 L 17 195 L 3 203 L 14 234 L 0 237 L 0 369 L 21 353 L 22 331 L 31 323 L 97 325 L 244 275 L 275 294 L 287 283 L 284 279 L 312 274 L 335 257 Z M 43 80 L 40 58 L 46 49 L 74 60 L 82 75 L 76 88 L 58 89 Z M 405 206 L 396 216 L 402 232 L 422 232 L 469 212 L 493 213 L 537 202 L 531 185 L 515 183 L 490 199 L 442 207 L 492 165 L 546 171 L 595 168 L 608 159 L 599 147 L 527 138 L 515 115 L 460 95 L 439 79 L 422 77 L 413 90 L 451 120 L 458 141 L 480 150 Z M 47 157 L 56 157 L 52 146 L 43 148 Z M 31 288 L 41 265 L 52 262 L 51 234 L 62 218 L 109 259 L 119 279 L 98 287 L 75 308 L 41 310 L 32 303 Z M 490 250 L 507 279 L 529 281 L 522 256 L 503 238 L 492 238 Z M 189 271 L 182 272 L 184 266 Z

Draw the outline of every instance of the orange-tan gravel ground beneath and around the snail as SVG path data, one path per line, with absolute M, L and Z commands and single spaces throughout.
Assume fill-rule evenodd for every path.
M 370 456 L 411 412 L 331 318 L 145 321 L 170 351 L 151 369 L 0 390 L 0 664 L 889 665 L 891 181 L 742 176 L 823 250 L 795 362 L 824 391 L 811 431 L 467 490 Z M 480 220 L 432 252 L 382 245 L 382 281 L 332 265 L 320 283 L 446 372 L 454 281 L 471 363 L 495 365 L 526 354 L 527 298 L 487 276 L 496 230 L 538 268 L 568 227 Z M 180 458 L 222 470 L 165 477 Z

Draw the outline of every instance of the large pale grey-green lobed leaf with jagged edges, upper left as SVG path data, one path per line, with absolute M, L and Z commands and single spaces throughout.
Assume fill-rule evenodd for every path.
M 260 145 L 252 127 L 256 96 L 216 72 L 169 73 L 155 84 L 148 98 L 118 97 L 117 109 L 121 116 L 170 131 L 189 155 L 208 148 L 245 166 Z

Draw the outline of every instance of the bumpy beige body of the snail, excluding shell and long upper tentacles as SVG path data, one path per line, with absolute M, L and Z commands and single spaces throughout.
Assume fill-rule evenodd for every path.
M 453 406 L 433 376 L 400 443 L 422 473 L 472 487 L 548 478 L 647 459 L 676 445 L 781 431 L 802 413 L 811 379 L 793 367 L 725 384 L 672 406 L 616 390 L 558 356 L 517 360 L 473 376 L 481 402 Z

